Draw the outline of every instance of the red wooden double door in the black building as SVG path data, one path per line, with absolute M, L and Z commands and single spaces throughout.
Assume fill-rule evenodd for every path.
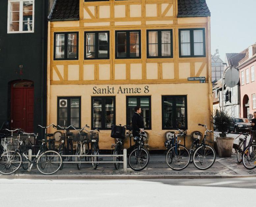
M 34 88 L 13 88 L 12 127 L 26 132 L 34 130 Z

